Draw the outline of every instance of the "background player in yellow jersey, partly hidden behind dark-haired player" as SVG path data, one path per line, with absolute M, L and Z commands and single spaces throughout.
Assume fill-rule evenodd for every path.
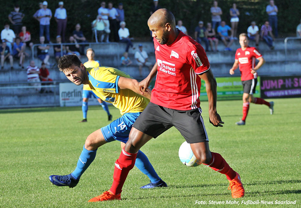
M 92 48 L 87 49 L 86 56 L 88 58 L 88 61 L 84 63 L 84 66 L 86 68 L 93 68 L 93 67 L 99 67 L 98 61 L 94 60 L 95 52 Z M 82 121 L 81 122 L 87 122 L 87 112 L 88 112 L 88 100 L 91 97 L 94 97 L 97 99 L 101 107 L 107 112 L 108 114 L 108 120 L 112 120 L 112 115 L 110 114 L 109 108 L 106 104 L 106 102 L 102 101 L 100 98 L 95 95 L 94 92 L 92 92 L 89 85 L 83 85 L 82 88 Z

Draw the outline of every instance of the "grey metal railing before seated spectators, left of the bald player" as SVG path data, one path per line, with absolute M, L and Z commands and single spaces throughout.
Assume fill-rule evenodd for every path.
M 92 48 L 92 45 L 116 45 L 117 47 L 120 45 L 116 42 L 110 42 L 110 43 L 99 43 L 99 42 L 80 42 L 80 43 L 44 43 L 44 44 L 33 44 L 33 47 L 31 48 L 31 54 L 32 54 L 32 59 L 34 59 L 34 48 L 37 46 L 53 46 L 53 45 L 60 45 L 61 46 L 61 56 L 63 56 L 63 46 L 66 45 L 89 45 L 89 48 Z M 96 54 L 97 55 L 97 54 Z M 117 66 L 120 66 L 120 54 L 116 53 L 117 55 Z

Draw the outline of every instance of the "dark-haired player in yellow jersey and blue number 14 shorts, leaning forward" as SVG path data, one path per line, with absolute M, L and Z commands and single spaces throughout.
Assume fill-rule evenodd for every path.
M 49 180 L 57 186 L 73 188 L 79 178 L 95 159 L 98 147 L 111 141 L 121 141 L 122 148 L 129 139 L 132 125 L 145 109 L 151 98 L 151 91 L 138 91 L 139 83 L 128 74 L 111 67 L 86 68 L 76 55 L 65 55 L 58 61 L 60 71 L 76 85 L 89 85 L 102 100 L 112 103 L 120 110 L 121 117 L 90 134 L 79 156 L 75 170 L 69 175 L 51 175 Z M 115 164 L 118 168 L 118 164 Z M 151 183 L 140 188 L 166 187 L 157 175 L 146 155 L 139 150 L 135 166 L 149 177 Z

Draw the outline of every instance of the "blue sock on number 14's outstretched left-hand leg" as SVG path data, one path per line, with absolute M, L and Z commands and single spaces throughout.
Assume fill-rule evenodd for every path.
M 77 161 L 77 165 L 75 170 L 71 173 L 73 177 L 79 179 L 80 176 L 85 172 L 85 170 L 89 167 L 89 165 L 93 162 L 96 156 L 96 150 L 88 151 L 84 147 L 82 148 L 82 154 L 80 154 L 79 159 Z

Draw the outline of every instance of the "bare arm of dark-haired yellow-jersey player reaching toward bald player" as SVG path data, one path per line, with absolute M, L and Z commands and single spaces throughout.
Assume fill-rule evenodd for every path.
M 139 91 L 139 82 L 136 79 L 130 79 L 126 77 L 119 77 L 118 80 L 119 89 L 130 89 L 133 92 L 146 97 L 147 99 L 151 99 L 151 90 L 147 88 L 143 94 Z

